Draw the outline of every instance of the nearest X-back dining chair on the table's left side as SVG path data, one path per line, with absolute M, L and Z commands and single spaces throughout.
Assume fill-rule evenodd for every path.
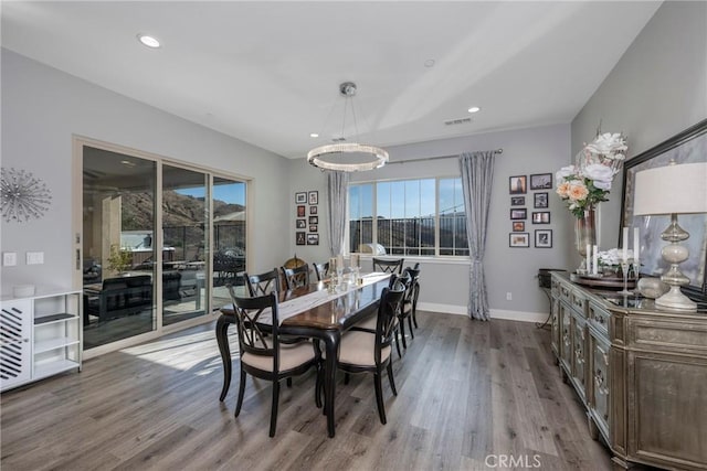
M 279 382 L 306 373 L 310 367 L 317 368 L 315 386 L 315 404 L 321 407 L 318 390 L 321 386 L 319 370 L 320 355 L 312 341 L 293 344 L 281 343 L 277 317 L 277 293 L 271 292 L 255 298 L 240 298 L 232 286 L 229 286 L 235 324 L 239 333 L 241 352 L 241 383 L 235 406 L 235 417 L 241 414 L 245 394 L 246 374 L 267 379 L 273 383 L 273 398 L 270 416 L 270 436 L 275 436 L 277 428 L 277 404 L 279 400 Z M 265 319 L 270 317 L 270 322 Z M 266 327 L 265 327 L 266 325 Z

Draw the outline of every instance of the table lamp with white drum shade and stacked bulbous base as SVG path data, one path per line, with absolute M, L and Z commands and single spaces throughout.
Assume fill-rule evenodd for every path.
M 671 290 L 655 300 L 656 306 L 668 309 L 695 311 L 697 304 L 680 291 L 688 285 L 687 278 L 678 266 L 687 260 L 687 247 L 679 243 L 689 238 L 689 234 L 677 224 L 678 214 L 707 213 L 707 162 L 676 164 L 636 172 L 633 214 L 671 215 L 671 225 L 661 234 L 669 242 L 663 247 L 663 259 L 671 268 L 661 276 L 661 280 Z

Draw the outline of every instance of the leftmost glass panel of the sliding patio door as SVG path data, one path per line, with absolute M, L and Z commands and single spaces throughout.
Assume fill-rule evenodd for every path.
M 156 329 L 156 162 L 84 147 L 84 349 Z

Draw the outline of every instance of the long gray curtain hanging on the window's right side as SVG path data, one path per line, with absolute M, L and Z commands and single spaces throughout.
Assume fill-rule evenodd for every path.
M 462 171 L 462 189 L 466 210 L 466 235 L 468 237 L 469 296 L 467 312 L 472 319 L 487 321 L 489 319 L 488 293 L 484 277 L 484 251 L 486 250 L 486 228 L 488 226 L 488 207 L 490 189 L 494 181 L 493 150 L 460 156 Z

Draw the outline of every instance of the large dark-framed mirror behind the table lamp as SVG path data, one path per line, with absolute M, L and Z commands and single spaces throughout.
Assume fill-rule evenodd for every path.
M 633 194 L 635 174 L 642 170 L 667 165 L 675 159 L 677 163 L 707 161 L 707 119 L 669 138 L 665 142 L 626 161 L 623 170 L 623 195 L 621 225 L 640 227 L 641 233 L 641 275 L 659 276 L 667 269 L 661 249 L 665 245 L 661 233 L 669 224 L 669 216 L 634 216 Z M 656 189 L 656 191 L 661 191 Z M 669 197 L 666 195 L 666 197 Z M 690 279 L 683 290 L 692 298 L 707 300 L 707 214 L 683 214 L 678 222 L 689 238 L 683 244 L 688 247 L 689 258 L 680 264 L 680 270 Z

